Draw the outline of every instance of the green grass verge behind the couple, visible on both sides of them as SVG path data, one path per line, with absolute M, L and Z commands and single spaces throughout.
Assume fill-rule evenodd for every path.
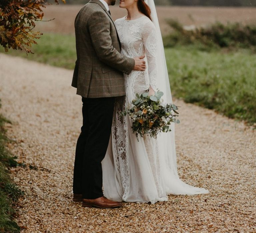
M 75 37 L 44 34 L 28 59 L 74 68 Z M 171 90 L 185 102 L 214 109 L 228 117 L 256 123 L 256 55 L 249 49 L 200 51 L 197 46 L 166 48 Z M 24 52 L 11 55 L 26 57 Z

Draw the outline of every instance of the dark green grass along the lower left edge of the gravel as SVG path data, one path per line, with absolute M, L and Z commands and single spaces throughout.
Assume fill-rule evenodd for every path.
M 7 168 L 18 163 L 15 160 L 17 157 L 6 149 L 8 138 L 3 128 L 5 122 L 10 121 L 0 115 L 0 232 L 20 232 L 20 227 L 14 221 L 15 210 L 12 206 L 23 192 L 9 177 Z

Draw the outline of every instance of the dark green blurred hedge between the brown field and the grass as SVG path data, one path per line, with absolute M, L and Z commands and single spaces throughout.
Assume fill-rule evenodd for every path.
M 224 25 L 216 22 L 208 28 L 192 28 L 186 30 L 179 22 L 169 20 L 169 25 L 174 29 L 170 35 L 164 38 L 166 47 L 176 45 L 193 44 L 202 50 L 216 48 L 251 48 L 256 46 L 256 26 L 240 23 L 228 23 Z

